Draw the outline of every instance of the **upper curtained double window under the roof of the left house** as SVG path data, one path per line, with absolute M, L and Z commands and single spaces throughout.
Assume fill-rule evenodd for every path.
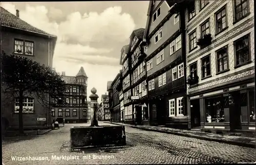
M 33 52 L 34 52 L 33 42 L 28 42 L 28 41 L 18 40 L 18 39 L 14 40 L 14 53 L 33 55 Z

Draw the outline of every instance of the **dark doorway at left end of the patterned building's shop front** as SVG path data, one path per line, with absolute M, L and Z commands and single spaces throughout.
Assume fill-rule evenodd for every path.
M 200 128 L 200 102 L 199 99 L 190 100 L 191 128 Z

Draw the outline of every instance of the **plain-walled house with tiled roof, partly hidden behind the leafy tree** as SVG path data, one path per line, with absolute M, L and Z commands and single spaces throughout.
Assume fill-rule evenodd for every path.
M 52 59 L 57 37 L 37 29 L 19 18 L 19 12 L 11 14 L 0 7 L 1 19 L 1 52 L 7 55 L 24 56 L 52 67 Z M 3 128 L 18 128 L 18 100 L 2 95 Z M 23 100 L 24 128 L 47 128 L 51 126 L 51 114 L 48 108 L 42 106 L 37 98 L 26 97 Z M 39 118 L 43 120 L 38 120 Z

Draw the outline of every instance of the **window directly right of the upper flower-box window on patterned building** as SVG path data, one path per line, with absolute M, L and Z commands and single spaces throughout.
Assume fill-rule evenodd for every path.
M 216 13 L 216 31 L 220 33 L 227 27 L 226 6 Z

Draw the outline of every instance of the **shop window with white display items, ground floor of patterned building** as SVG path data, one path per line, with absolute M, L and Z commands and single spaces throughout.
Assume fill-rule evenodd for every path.
M 206 105 L 206 122 L 219 123 L 225 122 L 224 118 L 224 101 L 222 97 L 205 99 Z

